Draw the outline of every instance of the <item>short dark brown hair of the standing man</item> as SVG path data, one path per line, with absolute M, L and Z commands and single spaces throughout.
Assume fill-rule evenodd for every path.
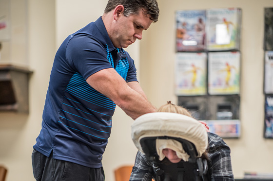
M 156 0 L 108 0 L 104 13 L 109 13 L 117 7 L 124 6 L 125 17 L 131 14 L 138 14 L 139 10 L 144 10 L 144 14 L 150 15 L 150 19 L 156 22 L 159 16 L 159 8 Z

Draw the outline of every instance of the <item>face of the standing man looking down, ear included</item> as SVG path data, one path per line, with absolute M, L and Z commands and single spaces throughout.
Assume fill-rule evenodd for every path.
M 142 39 L 142 31 L 147 30 L 153 20 L 149 15 L 145 15 L 143 11 L 139 11 L 138 15 L 123 16 L 119 15 L 115 27 L 112 27 L 113 33 L 110 37 L 116 48 L 127 48 L 137 39 Z

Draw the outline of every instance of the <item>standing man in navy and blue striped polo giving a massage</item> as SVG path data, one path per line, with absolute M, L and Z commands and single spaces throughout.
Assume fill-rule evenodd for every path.
M 134 120 L 155 112 L 123 48 L 141 40 L 158 15 L 156 0 L 109 0 L 102 17 L 60 45 L 32 153 L 37 181 L 104 181 L 116 105 Z

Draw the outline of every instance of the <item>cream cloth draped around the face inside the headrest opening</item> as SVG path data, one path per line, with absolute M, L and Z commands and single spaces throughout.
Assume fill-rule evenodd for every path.
M 156 152 L 160 161 L 165 158 L 162 150 L 166 148 L 174 150 L 179 159 L 189 161 L 190 156 L 185 152 L 179 141 L 173 139 L 156 139 Z

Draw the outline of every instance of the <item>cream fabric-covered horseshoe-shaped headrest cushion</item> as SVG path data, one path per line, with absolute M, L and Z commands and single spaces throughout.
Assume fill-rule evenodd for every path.
M 200 157 L 208 147 L 205 126 L 194 118 L 166 112 L 148 113 L 138 117 L 132 124 L 132 140 L 137 149 L 145 154 L 140 140 L 146 137 L 169 136 L 192 142 Z

